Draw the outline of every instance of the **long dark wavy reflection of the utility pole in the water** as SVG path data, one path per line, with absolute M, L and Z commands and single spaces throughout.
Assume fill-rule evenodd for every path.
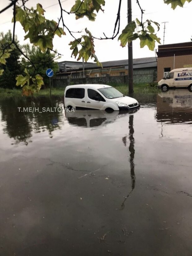
M 135 144 L 135 139 L 133 137 L 134 134 L 134 129 L 133 129 L 133 115 L 129 116 L 129 163 L 130 163 L 130 174 L 131 174 L 131 191 L 129 192 L 129 194 L 125 197 L 122 205 L 121 205 L 121 209 L 124 209 L 124 203 L 127 200 L 127 198 L 129 197 L 129 195 L 131 194 L 131 192 L 133 191 L 133 189 L 135 188 L 135 164 L 134 164 L 134 156 L 135 156 L 135 148 L 134 148 L 134 144 Z M 122 141 L 124 143 L 124 145 L 126 146 L 127 143 L 127 136 L 122 138 Z

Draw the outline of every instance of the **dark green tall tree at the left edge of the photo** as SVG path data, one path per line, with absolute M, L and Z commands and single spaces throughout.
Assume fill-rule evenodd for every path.
M 0 33 L 0 48 L 11 50 L 9 42 L 12 40 L 12 33 L 9 30 L 6 34 Z M 15 41 L 19 44 L 19 41 L 15 37 Z M 7 58 L 6 63 L 0 63 L 0 69 L 3 70 L 2 76 L 0 76 L 0 87 L 3 88 L 14 88 L 15 78 L 23 72 L 22 65 L 20 62 L 20 51 L 18 49 L 11 50 L 10 57 Z

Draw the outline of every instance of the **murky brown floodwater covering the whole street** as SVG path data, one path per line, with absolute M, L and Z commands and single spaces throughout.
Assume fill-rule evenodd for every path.
M 134 113 L 0 101 L 0 255 L 192 255 L 192 93 L 134 97 Z

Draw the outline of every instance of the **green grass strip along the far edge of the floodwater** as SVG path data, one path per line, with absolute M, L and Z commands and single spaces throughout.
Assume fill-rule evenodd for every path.
M 119 90 L 122 94 L 128 95 L 128 86 L 125 84 L 110 84 L 111 86 L 115 87 L 117 90 Z M 52 88 L 51 89 L 51 95 L 52 96 L 58 96 L 63 97 L 65 88 Z M 153 84 L 150 86 L 150 84 L 135 84 L 134 85 L 134 93 L 141 93 L 141 94 L 154 94 L 157 93 L 158 89 L 157 86 L 153 86 Z M 34 93 L 33 97 L 50 97 L 50 90 L 49 89 L 41 89 L 38 93 Z M 6 98 L 22 98 L 22 90 L 20 89 L 4 89 L 0 88 L 0 99 L 6 99 Z M 25 97 L 23 97 L 25 98 Z M 30 97 L 28 97 L 30 98 Z

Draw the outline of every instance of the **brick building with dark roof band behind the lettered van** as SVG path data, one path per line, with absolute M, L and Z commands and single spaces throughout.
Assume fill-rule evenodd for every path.
M 159 81 L 174 68 L 192 65 L 192 42 L 159 45 L 157 56 L 157 81 Z

